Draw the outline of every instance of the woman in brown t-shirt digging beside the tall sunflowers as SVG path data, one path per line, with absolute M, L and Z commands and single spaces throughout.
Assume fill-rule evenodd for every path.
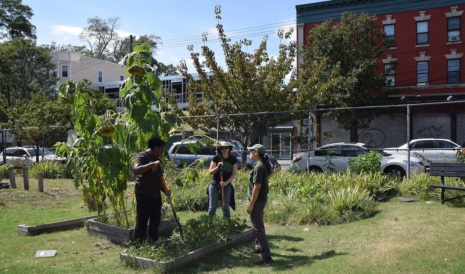
M 165 187 L 161 181 L 159 165 L 162 164 L 160 156 L 165 150 L 165 142 L 153 137 L 147 142 L 148 149 L 139 152 L 134 160 L 134 174 L 136 177 L 136 202 L 137 223 L 135 240 L 144 241 L 149 224 L 150 240 L 158 240 L 158 227 L 161 219 L 161 196 L 160 191 L 165 193 Z M 168 190 L 166 195 L 171 195 Z

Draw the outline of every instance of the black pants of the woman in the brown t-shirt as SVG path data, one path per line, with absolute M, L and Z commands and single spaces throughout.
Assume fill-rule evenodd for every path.
M 161 196 L 152 198 L 136 193 L 137 223 L 134 240 L 143 241 L 146 238 L 147 222 L 150 218 L 149 237 L 153 241 L 158 240 L 158 227 L 161 219 Z

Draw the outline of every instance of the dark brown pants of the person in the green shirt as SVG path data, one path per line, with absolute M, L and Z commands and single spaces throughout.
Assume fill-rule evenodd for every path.
M 263 209 L 265 209 L 265 201 L 257 201 L 253 205 L 250 222 L 252 223 L 253 234 L 255 234 L 255 250 L 261 253 L 262 258 L 271 257 L 268 238 L 265 234 L 265 225 L 263 224 Z

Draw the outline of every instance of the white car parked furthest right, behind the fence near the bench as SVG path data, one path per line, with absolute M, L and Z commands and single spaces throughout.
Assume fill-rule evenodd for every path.
M 410 156 L 421 159 L 425 166 L 429 163 L 456 162 L 457 151 L 460 146 L 448 139 L 424 138 L 410 141 Z M 407 156 L 407 143 L 397 148 L 384 149 L 386 153 Z

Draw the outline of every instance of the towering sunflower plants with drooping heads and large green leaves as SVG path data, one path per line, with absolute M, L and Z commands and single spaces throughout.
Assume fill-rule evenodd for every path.
M 106 111 L 95 115 L 93 101 L 86 99 L 77 81 L 68 80 L 59 86 L 60 98 L 72 104 L 76 139 L 73 144 L 57 143 L 56 153 L 68 158 L 76 189 L 82 187 L 83 200 L 92 197 L 98 206 L 100 219 L 107 221 L 107 210 L 113 209 L 121 226 L 129 227 L 126 215 L 127 181 L 132 172 L 133 155 L 145 150 L 152 137 L 164 141 L 170 130 L 180 125 L 173 112 L 153 111 L 164 103 L 161 81 L 155 75 L 156 61 L 147 45 L 134 46 L 134 52 L 122 60 L 128 79 L 120 86 L 120 98 L 125 110 Z M 167 152 L 165 151 L 166 157 Z

